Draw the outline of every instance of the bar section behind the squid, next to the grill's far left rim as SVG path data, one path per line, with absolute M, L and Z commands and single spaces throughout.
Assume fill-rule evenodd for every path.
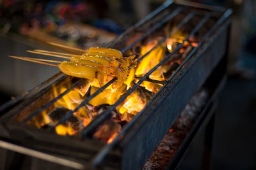
M 142 36 L 140 36 L 140 38 L 136 39 L 136 41 L 134 41 L 133 43 L 131 43 L 131 45 L 127 46 L 124 48 L 124 50 L 122 50 L 121 52 L 124 53 L 127 50 L 129 50 L 130 48 L 132 48 L 132 46 L 136 45 L 136 43 L 140 42 L 142 39 L 146 38 L 149 34 L 151 34 L 153 31 L 155 31 L 157 28 L 161 27 L 164 23 L 168 22 L 169 20 L 171 20 L 173 17 L 175 17 L 176 15 L 178 15 L 180 12 L 182 11 L 182 8 L 177 8 L 177 10 L 173 11 L 173 13 L 171 13 L 170 15 L 168 15 L 167 17 L 165 17 L 161 22 L 159 22 L 158 24 L 154 25 L 154 27 L 152 27 L 151 29 L 149 29 L 145 34 L 143 34 Z

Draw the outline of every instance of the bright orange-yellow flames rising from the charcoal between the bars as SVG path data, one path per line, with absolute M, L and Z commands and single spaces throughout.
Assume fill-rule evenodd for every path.
M 105 90 L 100 92 L 97 96 L 95 96 L 88 104 L 91 108 L 100 106 L 101 104 L 114 104 L 120 96 L 122 96 L 127 90 L 132 87 L 132 85 L 136 82 L 138 82 L 137 79 L 134 78 L 134 74 L 138 77 L 143 76 L 146 74 L 150 69 L 152 69 L 154 66 L 156 66 L 161 60 L 166 57 L 166 55 L 170 52 L 173 52 L 173 49 L 176 48 L 179 43 L 182 43 L 186 37 L 186 34 L 182 31 L 177 31 L 175 34 L 173 34 L 170 38 L 167 38 L 164 43 L 154 48 L 154 46 L 157 45 L 158 41 L 155 38 L 154 40 L 148 41 L 145 43 L 145 45 L 141 46 L 141 53 L 140 56 L 145 55 L 145 53 L 150 52 L 144 59 L 142 59 L 138 67 L 130 70 L 130 74 L 133 76 L 128 76 L 127 81 L 123 83 L 122 86 L 118 87 L 117 89 L 113 89 L 113 87 L 110 85 Z M 189 41 L 185 41 L 184 45 L 182 45 L 182 48 L 180 48 L 179 52 L 175 53 L 177 55 L 182 55 L 183 53 L 186 53 L 186 48 L 188 46 L 197 46 L 198 43 L 194 42 L 193 39 L 189 39 Z M 154 71 L 152 74 L 150 74 L 150 79 L 163 81 L 167 80 L 166 73 L 172 74 L 172 71 L 170 72 L 170 67 L 172 67 L 173 62 L 177 62 L 180 64 L 182 62 L 181 57 L 178 57 L 176 60 L 168 60 L 166 63 L 161 65 Z M 168 72 L 169 71 L 169 72 Z M 111 78 L 110 77 L 104 77 L 104 83 L 108 82 Z M 134 115 L 139 113 L 147 102 L 151 99 L 152 96 L 150 96 L 150 93 L 156 94 L 156 92 L 161 89 L 163 86 L 161 83 L 153 83 L 150 81 L 143 81 L 140 85 L 141 87 L 145 87 L 145 89 L 142 89 L 142 92 L 138 89 L 136 89 L 132 94 L 130 94 L 119 106 L 116 107 L 116 111 L 118 112 L 118 117 L 120 117 L 119 120 L 115 120 L 115 124 L 118 124 L 118 128 L 121 129 L 121 124 L 118 121 L 126 121 L 129 122 Z M 61 99 L 59 99 L 56 103 L 54 103 L 53 108 L 57 107 L 63 107 L 67 108 L 68 110 L 74 110 L 79 104 L 81 104 L 84 99 L 86 99 L 86 96 L 84 96 L 86 93 L 89 95 L 94 94 L 99 90 L 99 81 L 97 79 L 95 80 L 87 80 L 86 83 L 83 85 L 80 89 L 74 89 L 68 92 L 65 96 L 63 96 Z M 59 96 L 61 93 L 63 93 L 65 90 L 67 90 L 66 87 L 61 88 L 53 88 L 53 94 L 54 97 Z M 144 91 L 143 91 L 144 90 Z M 148 94 L 148 96 L 146 95 Z M 89 108 L 86 108 L 87 106 L 82 107 L 79 111 L 74 113 L 74 118 L 77 119 L 77 121 L 83 122 L 83 127 L 86 127 L 90 122 L 93 120 L 93 118 L 97 117 L 98 113 L 92 113 L 92 110 L 89 110 Z M 55 122 L 54 120 L 51 120 L 49 117 L 49 110 L 42 111 L 42 114 L 40 117 L 43 118 L 43 120 L 40 120 L 40 118 L 36 117 L 33 120 L 33 123 L 36 125 L 36 127 L 40 128 L 46 124 L 56 124 L 58 123 L 58 120 Z M 39 121 L 40 120 L 40 121 Z M 112 125 L 115 125 L 114 123 Z M 116 128 L 116 127 L 115 127 Z M 74 135 L 76 134 L 79 129 L 74 129 L 72 124 L 60 124 L 56 127 L 56 133 L 60 135 Z M 116 138 L 116 135 L 118 132 L 112 131 L 112 133 L 106 134 L 108 130 L 108 127 L 104 127 L 100 132 L 98 131 L 96 137 L 99 139 L 104 136 L 104 141 L 107 143 L 111 143 L 113 139 Z M 172 129 L 170 130 L 170 132 Z M 96 133 L 95 133 L 96 134 Z M 105 137 L 109 138 L 105 138 Z

